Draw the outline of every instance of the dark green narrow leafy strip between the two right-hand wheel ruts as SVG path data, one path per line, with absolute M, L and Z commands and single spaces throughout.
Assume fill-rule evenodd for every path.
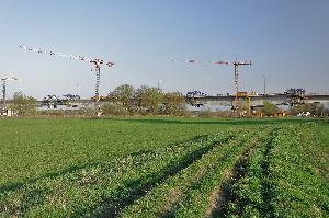
M 277 128 L 271 130 L 262 138 L 262 142 L 238 163 L 236 176 L 231 179 L 227 187 L 227 199 L 218 210 L 212 214 L 212 217 L 258 217 L 262 214 L 265 151 L 269 150 L 276 131 Z

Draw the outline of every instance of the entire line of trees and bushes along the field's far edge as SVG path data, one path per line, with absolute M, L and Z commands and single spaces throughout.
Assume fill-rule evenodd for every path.
M 230 117 L 231 113 L 212 112 L 202 110 L 198 113 L 186 111 L 185 96 L 180 92 L 163 92 L 154 87 L 141 85 L 135 89 L 131 84 L 122 84 L 102 96 L 101 111 L 103 115 L 126 116 L 126 115 L 172 115 L 172 116 L 200 116 L 200 117 Z M 93 116 L 94 111 L 89 106 L 81 106 L 79 110 L 36 110 L 36 99 L 26 96 L 22 92 L 13 95 L 8 108 L 16 116 Z M 264 116 L 273 116 L 280 112 L 276 105 L 264 102 L 261 112 Z M 300 104 L 291 107 L 287 114 L 299 116 L 309 114 L 316 117 L 328 117 L 329 108 L 322 104 Z

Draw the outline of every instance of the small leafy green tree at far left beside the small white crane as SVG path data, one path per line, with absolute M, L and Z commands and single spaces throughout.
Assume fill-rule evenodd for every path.
M 35 112 L 36 100 L 32 96 L 25 96 L 22 92 L 15 92 L 12 104 L 9 106 L 11 111 L 19 116 Z

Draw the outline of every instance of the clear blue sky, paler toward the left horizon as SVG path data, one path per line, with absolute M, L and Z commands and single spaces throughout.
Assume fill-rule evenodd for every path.
M 166 91 L 329 93 L 328 0 L 0 0 L 0 77 L 9 97 L 22 91 L 94 94 L 87 61 L 21 49 L 20 45 L 114 61 L 101 69 L 100 93 L 127 83 Z M 200 64 L 180 60 L 195 58 Z M 171 61 L 175 59 L 178 61 Z

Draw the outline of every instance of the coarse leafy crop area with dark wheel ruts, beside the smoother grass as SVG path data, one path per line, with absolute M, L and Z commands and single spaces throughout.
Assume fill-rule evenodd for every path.
M 1 190 L 0 217 L 327 217 L 315 129 L 235 129 L 49 173 Z

